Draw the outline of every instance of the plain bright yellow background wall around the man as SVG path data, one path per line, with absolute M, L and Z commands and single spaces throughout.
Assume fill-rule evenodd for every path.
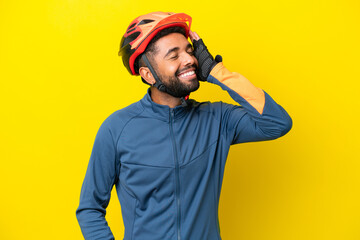
M 360 2 L 0 0 L 0 239 L 82 239 L 75 210 L 95 134 L 147 87 L 117 56 L 138 15 L 185 12 L 224 64 L 293 119 L 232 146 L 224 240 L 360 239 Z M 233 103 L 202 83 L 198 101 Z M 107 220 L 122 239 L 113 191 Z

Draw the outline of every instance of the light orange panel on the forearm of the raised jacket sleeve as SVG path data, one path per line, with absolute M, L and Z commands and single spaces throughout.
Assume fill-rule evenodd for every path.
M 248 79 L 236 72 L 230 72 L 222 63 L 218 63 L 210 75 L 235 91 L 252 107 L 262 114 L 265 106 L 265 94 L 261 88 L 255 87 Z

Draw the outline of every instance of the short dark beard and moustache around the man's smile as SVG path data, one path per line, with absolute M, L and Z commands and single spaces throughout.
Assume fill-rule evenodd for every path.
M 191 67 L 195 67 L 196 65 L 193 65 Z M 188 68 L 191 68 L 188 67 Z M 188 69 L 187 68 L 187 69 Z M 184 71 L 186 69 L 182 69 L 181 71 Z M 166 87 L 166 92 L 170 94 L 173 97 L 181 98 L 189 95 L 191 92 L 194 92 L 198 90 L 200 87 L 199 80 L 197 78 L 194 78 L 189 81 L 188 84 L 185 84 L 181 82 L 181 80 L 177 77 L 178 73 L 180 71 L 177 71 L 174 76 L 168 77 L 167 81 L 164 81 L 164 76 L 159 76 L 161 82 Z M 196 72 L 196 71 L 195 71 Z

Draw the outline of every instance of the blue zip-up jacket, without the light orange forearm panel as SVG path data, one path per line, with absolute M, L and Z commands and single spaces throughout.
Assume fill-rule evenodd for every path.
M 114 239 L 105 220 L 116 187 L 124 240 L 219 240 L 218 204 L 230 145 L 275 139 L 292 120 L 266 92 L 262 114 L 212 75 L 241 106 L 151 100 L 114 112 L 101 125 L 76 216 L 85 239 Z

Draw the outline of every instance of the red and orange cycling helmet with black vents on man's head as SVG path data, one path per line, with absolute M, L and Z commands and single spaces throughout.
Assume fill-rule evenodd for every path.
M 183 27 L 189 36 L 191 17 L 185 13 L 152 12 L 132 21 L 120 43 L 119 56 L 131 75 L 135 72 L 135 59 L 142 54 L 151 39 L 161 30 L 169 27 Z

